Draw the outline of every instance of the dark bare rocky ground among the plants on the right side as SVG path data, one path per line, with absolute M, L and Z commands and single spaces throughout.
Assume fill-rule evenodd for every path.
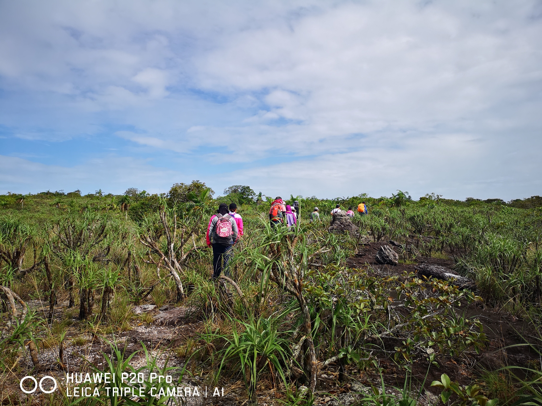
M 454 280 L 454 284 L 466 289 L 473 289 L 474 282 L 468 278 L 462 277 L 454 271 L 454 262 L 449 258 L 423 257 L 416 250 L 416 240 L 409 238 L 407 245 L 407 258 L 412 258 L 412 253 L 417 253 L 414 259 L 400 260 L 398 264 L 382 264 L 378 254 L 393 250 L 399 258 L 403 258 L 405 247 L 396 241 L 366 241 L 365 244 L 358 247 L 356 257 L 349 258 L 347 264 L 351 268 L 370 267 L 376 273 L 381 275 L 402 275 L 404 272 L 416 273 L 420 277 L 435 277 L 442 280 Z M 410 248 L 410 249 L 409 249 Z M 476 357 L 464 360 L 463 363 L 457 363 L 454 359 L 443 359 L 440 362 L 441 368 L 431 368 L 425 387 L 428 391 L 438 392 L 434 388 L 429 388 L 433 380 L 440 379 L 442 373 L 448 374 L 453 381 L 462 384 L 469 384 L 473 379 L 478 378 L 476 372 L 482 369 L 495 370 L 505 365 L 525 366 L 529 362 L 537 362 L 539 355 L 529 346 L 515 346 L 515 344 L 525 343 L 526 337 L 530 337 L 533 329 L 525 322 L 512 315 L 502 312 L 486 309 L 483 305 L 470 305 L 463 309 L 466 317 L 478 317 L 483 324 L 484 332 L 489 339 L 489 345 L 486 350 Z M 389 365 L 384 374 L 385 381 L 391 385 L 402 387 L 404 379 L 399 376 L 397 368 L 390 362 L 382 361 Z M 413 370 L 414 376 L 420 382 L 423 381 L 426 369 L 420 368 Z

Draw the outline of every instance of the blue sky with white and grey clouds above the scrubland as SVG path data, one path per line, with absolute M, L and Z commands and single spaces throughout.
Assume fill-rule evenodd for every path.
M 540 1 L 0 0 L 0 193 L 542 195 Z

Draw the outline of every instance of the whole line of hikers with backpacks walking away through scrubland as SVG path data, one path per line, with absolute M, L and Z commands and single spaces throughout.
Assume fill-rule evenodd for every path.
M 341 212 L 340 205 L 337 205 L 332 211 L 332 217 Z M 358 205 L 360 215 L 367 214 L 365 202 Z M 295 200 L 294 205 L 287 205 L 280 196 L 276 197 L 269 208 L 269 222 L 272 227 L 279 224 L 286 224 L 293 227 L 298 224 L 300 214 L 299 201 Z M 354 217 L 352 206 L 348 208 L 346 215 Z M 319 208 L 314 207 L 310 215 L 311 222 L 320 221 Z M 209 219 L 207 227 L 207 246 L 212 246 L 212 279 L 220 277 L 221 273 L 229 277 L 228 260 L 230 250 L 235 243 L 243 236 L 243 218 L 237 213 L 237 205 L 231 203 L 229 206 L 221 203 L 218 206 L 216 214 Z

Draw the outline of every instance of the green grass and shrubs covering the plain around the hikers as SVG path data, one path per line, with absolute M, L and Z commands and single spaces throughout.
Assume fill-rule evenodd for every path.
M 202 192 L 201 188 L 194 191 Z M 72 344 L 80 346 L 91 333 L 105 336 L 130 330 L 139 323 L 152 323 L 151 315 L 133 314 L 136 303 L 159 307 L 182 304 L 196 310 L 198 328 L 203 333 L 176 343 L 171 352 L 174 356 L 197 359 L 198 370 L 212 384 L 232 376 L 244 377 L 251 401 L 257 395 L 258 382 L 274 382 L 275 389 L 285 394 L 284 399 L 308 404 L 312 394 L 298 397 L 299 391 L 293 388 L 299 382 L 310 386 L 308 358 L 302 351 L 311 353 L 311 345 L 320 366 L 326 359 L 342 355 L 326 368 L 345 369 L 347 364 L 355 364 L 369 371 L 378 357 L 410 368 L 411 363 L 425 362 L 427 354 L 421 349 L 428 346 L 434 350 L 435 362 L 443 357 L 461 361 L 484 350 L 486 337 L 480 321 L 456 312 L 454 303 L 483 300 L 485 306 L 495 310 L 528 317 L 533 326 L 541 324 L 540 208 L 517 208 L 519 202 L 460 202 L 436 195 L 414 202 L 399 193 L 392 199 L 298 197 L 300 227 L 276 230 L 266 221 L 269 201 L 243 204 L 238 211 L 243 216 L 245 235 L 230 259 L 231 276 L 240 295 L 229 283 L 228 294 L 209 281 L 212 253 L 204 236 L 217 201 L 205 193 L 183 193 L 184 201 L 177 202 L 158 195 L 132 197 L 127 213 L 120 211 L 121 197 L 113 195 L 101 199 L 61 193 L 28 195 L 22 207 L 16 195 L 0 197 L 4 202 L 0 205 L 0 250 L 13 253 L 23 244 L 26 251 L 21 269 L 30 269 L 36 262 L 24 276 L 12 264 L 1 263 L 2 284 L 11 286 L 23 300 L 40 299 L 47 307 L 51 277 L 59 302 L 56 314 L 62 315 L 50 325 L 36 316 L 19 330 L 9 328 L 12 336 L 2 341 L 0 373 L 14 365 L 29 337 L 41 339 L 44 347 L 56 348 L 62 334 L 69 330 Z M 453 260 L 456 271 L 476 281 L 481 297 L 438 281 L 422 282 L 406 275 L 378 277 L 363 270 L 348 270 L 346 259 L 353 256 L 356 240 L 328 233 L 327 213 L 337 202 L 343 207 L 357 206 L 362 200 L 369 206 L 369 215 L 353 220 L 360 234 L 377 241 L 403 243 L 414 238 L 421 255 Z M 528 204 L 535 201 L 528 200 Z M 314 206 L 320 208 L 322 222 L 309 224 L 308 215 Z M 168 232 L 172 253 L 168 252 Z M 68 235 L 78 237 L 68 242 Z M 141 243 L 145 236 L 155 244 L 151 250 Z M 196 250 L 192 250 L 194 246 Z M 180 303 L 175 279 L 164 261 L 160 262 L 162 254 L 178 261 L 175 269 L 185 289 Z M 49 275 L 45 260 L 50 265 Z M 399 262 L 415 264 L 416 259 L 408 257 Z M 107 287 L 114 291 L 107 321 L 103 322 L 102 292 Z M 152 293 L 141 302 L 151 287 Z M 63 303 L 70 289 L 74 307 L 67 309 Z M 85 289 L 93 293 L 93 303 L 92 295 L 81 303 Z M 430 292 L 434 295 L 429 298 Z M 92 315 L 78 320 L 80 310 L 89 303 L 93 304 Z M 395 307 L 399 304 L 400 310 Z M 7 320 L 9 314 L 2 317 Z M 377 337 L 371 346 L 367 344 L 370 336 Z M 386 349 L 388 352 L 381 351 L 382 337 L 395 339 L 397 345 Z M 267 363 L 261 361 L 263 356 Z M 118 363 L 112 361 L 107 368 L 118 371 L 128 355 L 115 357 Z M 147 361 L 147 366 L 152 366 L 152 357 Z M 196 368 L 192 361 L 190 365 Z M 227 376 L 221 374 L 224 370 Z M 489 397 L 510 400 L 518 396 L 518 381 L 511 375 L 487 372 L 481 381 Z M 531 383 L 529 388 L 538 390 L 537 384 Z M 55 404 L 65 401 L 55 400 Z M 380 402 L 382 397 L 375 395 L 373 401 Z

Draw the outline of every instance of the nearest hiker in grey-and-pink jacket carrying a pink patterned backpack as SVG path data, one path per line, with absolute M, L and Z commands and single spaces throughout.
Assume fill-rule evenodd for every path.
M 221 203 L 216 214 L 211 217 L 207 228 L 207 245 L 212 245 L 212 279 L 220 277 L 222 271 L 225 276 L 229 275 L 228 260 L 229 251 L 237 240 L 237 223 L 228 214 L 228 205 Z M 223 264 L 222 264 L 223 262 Z

